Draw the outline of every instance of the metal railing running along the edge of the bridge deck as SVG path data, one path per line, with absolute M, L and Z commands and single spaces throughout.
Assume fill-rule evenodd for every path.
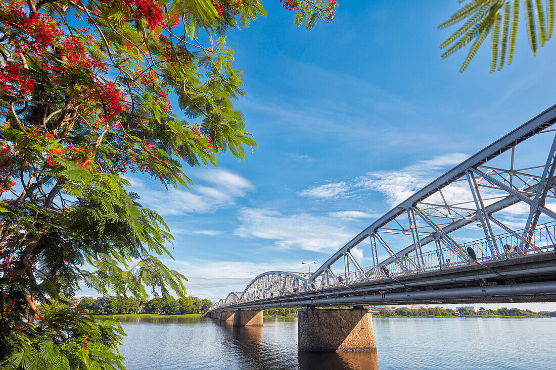
M 345 287 L 349 289 L 349 284 L 381 281 L 385 278 L 397 278 L 414 273 L 430 271 L 442 271 L 444 269 L 465 266 L 476 262 L 484 263 L 501 259 L 512 259 L 529 254 L 544 252 L 556 252 L 556 223 L 539 225 L 532 234 L 530 241 L 523 237 L 524 230 L 513 233 L 505 233 L 495 236 L 492 240 L 480 239 L 478 241 L 460 244 L 461 248 L 442 246 L 434 251 L 425 252 L 422 257 L 416 256 L 413 252 L 411 256 L 405 256 L 399 261 L 394 261 L 383 266 L 371 266 L 363 269 L 355 269 L 349 273 L 329 275 L 328 278 L 322 277 L 307 285 L 289 284 L 286 287 L 275 287 L 271 284 L 266 292 L 251 294 L 242 297 L 234 303 L 223 303 L 217 307 L 234 306 L 237 303 L 268 301 L 276 302 L 281 296 L 290 294 L 302 295 L 304 292 L 319 292 L 321 289 Z M 475 258 L 471 258 L 467 249 L 470 248 L 475 253 Z M 476 262 L 475 262 L 476 261 Z

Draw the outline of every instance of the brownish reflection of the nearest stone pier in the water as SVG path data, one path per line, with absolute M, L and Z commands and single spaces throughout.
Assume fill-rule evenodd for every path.
M 300 370 L 378 370 L 376 351 L 362 352 L 299 352 Z

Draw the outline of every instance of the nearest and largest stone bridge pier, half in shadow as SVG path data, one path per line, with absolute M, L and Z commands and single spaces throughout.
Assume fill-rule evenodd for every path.
M 300 352 L 376 351 L 369 309 L 297 310 Z

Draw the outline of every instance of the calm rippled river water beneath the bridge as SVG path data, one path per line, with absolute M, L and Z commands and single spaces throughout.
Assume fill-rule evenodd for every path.
M 377 352 L 297 353 L 297 319 L 124 319 L 129 370 L 556 369 L 556 319 L 374 318 Z

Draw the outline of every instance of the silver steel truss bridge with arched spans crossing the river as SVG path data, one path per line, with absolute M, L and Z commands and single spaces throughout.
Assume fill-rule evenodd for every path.
M 390 209 L 314 273 L 262 273 L 210 311 L 556 301 L 555 122 L 553 106 Z M 354 248 L 373 264 L 361 267 Z

